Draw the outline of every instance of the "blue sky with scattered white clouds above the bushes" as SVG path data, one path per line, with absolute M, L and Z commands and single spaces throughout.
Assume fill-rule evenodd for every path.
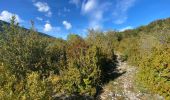
M 11 16 L 25 28 L 66 39 L 85 37 L 88 29 L 133 29 L 170 17 L 170 0 L 0 0 L 0 20 Z

